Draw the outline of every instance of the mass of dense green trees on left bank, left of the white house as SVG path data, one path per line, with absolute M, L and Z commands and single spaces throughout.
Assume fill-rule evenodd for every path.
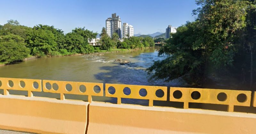
M 43 57 L 92 53 L 94 48 L 88 41 L 96 36 L 85 28 L 75 28 L 65 35 L 54 26 L 39 24 L 30 28 L 9 20 L 0 26 L 0 62 L 22 61 L 29 54 Z

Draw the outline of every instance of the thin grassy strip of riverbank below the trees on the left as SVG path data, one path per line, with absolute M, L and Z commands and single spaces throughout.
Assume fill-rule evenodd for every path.
M 110 51 L 107 50 L 97 50 L 93 53 L 88 53 L 88 54 L 72 54 L 72 55 L 64 55 L 64 56 L 84 56 L 84 55 L 89 55 L 89 54 L 106 54 L 106 53 L 119 53 L 119 52 L 132 52 L 132 51 L 137 51 L 140 49 L 148 49 L 150 47 L 145 47 L 145 48 L 135 48 L 135 49 L 123 49 L 123 48 L 113 48 Z M 51 57 L 61 57 L 62 55 L 58 55 L 58 56 L 51 56 Z M 23 59 L 21 62 L 27 61 L 27 60 L 32 60 L 32 59 L 37 59 L 37 58 L 41 58 L 41 57 L 36 57 L 36 56 L 31 56 L 29 55 L 27 58 Z M 5 65 L 11 65 L 11 64 L 16 64 L 16 63 L 20 63 L 20 62 L 14 62 L 14 63 L 9 63 L 9 64 L 5 64 L 5 63 L 1 63 L 0 62 L 0 66 L 5 66 Z

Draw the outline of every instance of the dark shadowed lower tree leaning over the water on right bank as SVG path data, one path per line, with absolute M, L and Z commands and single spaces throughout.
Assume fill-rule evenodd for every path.
M 201 84 L 204 64 L 201 51 L 193 50 L 193 42 L 196 41 L 198 22 L 187 22 L 186 25 L 177 28 L 177 33 L 168 39 L 158 55 L 167 55 L 162 61 L 156 61 L 147 69 L 151 78 L 170 81 L 175 78 L 183 78 L 188 83 Z

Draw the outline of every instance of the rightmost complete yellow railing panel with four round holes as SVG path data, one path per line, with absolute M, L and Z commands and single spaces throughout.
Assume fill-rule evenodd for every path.
M 188 108 L 188 102 L 223 104 L 228 105 L 229 112 L 233 112 L 234 105 L 250 106 L 251 93 L 238 90 L 171 87 L 170 101 L 184 102 L 185 109 Z

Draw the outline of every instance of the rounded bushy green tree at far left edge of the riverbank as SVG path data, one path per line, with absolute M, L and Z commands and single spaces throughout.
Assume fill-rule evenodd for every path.
M 14 34 L 0 36 L 0 62 L 22 61 L 28 57 L 29 53 L 22 37 Z

